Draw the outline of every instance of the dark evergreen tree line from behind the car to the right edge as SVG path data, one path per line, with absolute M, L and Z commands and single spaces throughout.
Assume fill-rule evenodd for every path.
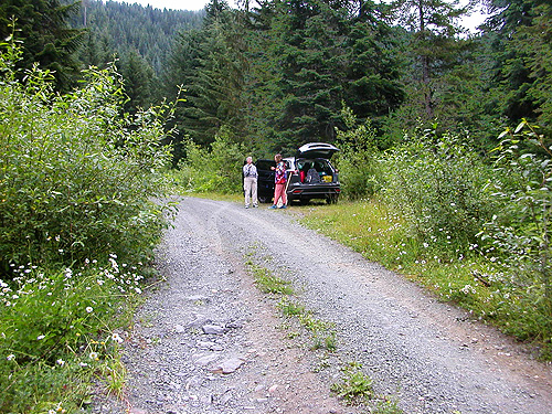
M 181 137 L 213 141 L 224 127 L 261 153 L 335 141 L 343 106 L 376 128 L 380 149 L 408 130 L 469 134 L 481 150 L 521 118 L 550 124 L 551 8 L 487 2 L 478 34 L 447 1 L 268 1 L 209 6 L 183 32 L 168 68 L 185 86 Z M 179 153 L 177 153 L 179 156 Z

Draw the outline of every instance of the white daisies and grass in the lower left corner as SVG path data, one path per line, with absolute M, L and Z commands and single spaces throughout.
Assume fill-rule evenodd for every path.
M 76 412 L 94 378 L 112 392 L 124 375 L 117 354 L 121 297 L 141 293 L 137 268 L 13 266 L 0 280 L 0 412 Z

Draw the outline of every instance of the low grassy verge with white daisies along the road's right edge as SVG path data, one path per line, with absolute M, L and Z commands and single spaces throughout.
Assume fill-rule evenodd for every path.
M 506 176 L 513 172 L 502 173 Z M 497 201 L 496 212 L 506 216 L 507 210 L 503 201 Z M 535 353 L 551 359 L 550 310 L 539 296 L 543 294 L 542 282 L 538 282 L 538 274 L 521 274 L 518 267 L 528 270 L 528 263 L 519 261 L 513 251 L 511 259 L 506 261 L 507 253 L 498 248 L 498 242 L 490 244 L 506 231 L 505 223 L 498 225 L 498 216 L 496 227 L 486 224 L 484 234 L 488 240 L 484 246 L 471 244 L 467 253 L 457 253 L 455 257 L 450 257 L 450 246 L 445 243 L 424 244 L 410 235 L 402 214 L 381 199 L 316 206 L 305 212 L 302 222 L 368 259 L 401 272 L 443 300 L 470 310 L 519 339 L 534 341 Z M 498 234 L 492 233 L 495 230 Z M 517 240 L 521 237 L 517 235 Z M 511 238 L 510 243 L 514 241 Z

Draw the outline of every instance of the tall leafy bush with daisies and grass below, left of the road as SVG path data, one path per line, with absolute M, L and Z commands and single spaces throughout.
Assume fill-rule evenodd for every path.
M 169 108 L 121 115 L 112 67 L 61 95 L 0 44 L 0 413 L 75 413 L 120 394 L 119 348 L 169 205 Z

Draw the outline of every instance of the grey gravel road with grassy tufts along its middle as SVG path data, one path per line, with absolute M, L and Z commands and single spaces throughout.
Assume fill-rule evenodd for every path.
M 124 402 L 97 413 L 368 413 L 330 392 L 354 362 L 404 413 L 552 413 L 552 367 L 469 314 L 314 231 L 297 212 L 179 199 L 166 282 L 127 335 Z M 289 280 L 336 350 L 286 319 L 251 265 Z M 316 338 L 315 338 L 316 339 Z

